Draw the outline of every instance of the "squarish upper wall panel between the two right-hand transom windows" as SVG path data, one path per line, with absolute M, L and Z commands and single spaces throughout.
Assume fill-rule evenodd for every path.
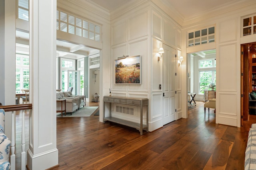
M 219 43 L 237 40 L 237 20 L 232 18 L 219 23 Z

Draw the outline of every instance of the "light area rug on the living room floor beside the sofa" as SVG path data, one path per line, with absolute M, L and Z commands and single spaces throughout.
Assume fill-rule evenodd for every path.
M 62 117 L 89 117 L 98 109 L 98 106 L 88 106 L 88 107 L 81 107 L 78 111 L 74 111 L 71 113 L 62 113 Z M 57 117 L 61 117 L 61 113 L 57 113 Z

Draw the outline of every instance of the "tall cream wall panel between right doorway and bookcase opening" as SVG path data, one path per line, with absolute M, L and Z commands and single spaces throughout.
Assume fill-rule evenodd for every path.
M 237 44 L 220 45 L 216 56 L 218 72 L 217 89 L 223 91 L 237 90 Z M 228 66 L 227 66 L 228 65 Z M 227 83 L 228 82 L 228 83 Z

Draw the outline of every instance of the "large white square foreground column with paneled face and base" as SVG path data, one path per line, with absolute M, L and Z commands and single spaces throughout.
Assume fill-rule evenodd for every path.
M 56 148 L 56 0 L 30 0 L 30 143 L 28 168 L 58 165 Z

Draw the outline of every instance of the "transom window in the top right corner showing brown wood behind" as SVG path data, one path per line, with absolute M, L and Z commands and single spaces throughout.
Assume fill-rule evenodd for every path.
M 256 34 L 256 14 L 242 18 L 242 36 Z

